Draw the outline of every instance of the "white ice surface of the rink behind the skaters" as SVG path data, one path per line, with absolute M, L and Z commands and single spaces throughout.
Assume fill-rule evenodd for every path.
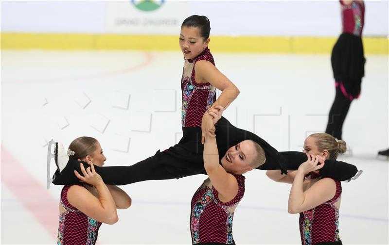
M 212 45 L 210 46 L 212 50 Z M 240 90 L 225 117 L 280 151 L 323 131 L 335 97 L 329 55 L 213 53 Z M 55 244 L 61 186 L 46 190 L 47 142 L 97 138 L 106 166 L 130 165 L 181 137 L 180 52 L 1 52 L 1 244 Z M 341 161 L 363 169 L 342 182 L 343 244 L 388 244 L 388 56 L 367 56 L 361 97 L 343 128 Z M 52 172 L 54 169 L 52 165 Z M 246 174 L 234 215 L 237 244 L 300 244 L 290 186 Z M 190 200 L 206 176 L 123 186 L 132 206 L 100 229 L 98 244 L 190 244 Z

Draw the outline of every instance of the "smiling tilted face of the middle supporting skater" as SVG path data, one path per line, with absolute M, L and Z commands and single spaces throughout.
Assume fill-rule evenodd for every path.
M 230 147 L 222 158 L 221 163 L 226 171 L 234 174 L 243 174 L 252 170 L 250 164 L 255 161 L 256 154 L 254 143 L 250 140 L 245 140 Z

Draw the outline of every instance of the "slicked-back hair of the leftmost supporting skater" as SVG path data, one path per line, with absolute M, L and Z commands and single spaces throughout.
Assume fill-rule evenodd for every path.
M 69 150 L 74 151 L 73 156 L 69 156 L 75 160 L 84 159 L 88 155 L 92 155 L 96 150 L 97 140 L 92 137 L 82 136 L 73 140 L 69 145 Z

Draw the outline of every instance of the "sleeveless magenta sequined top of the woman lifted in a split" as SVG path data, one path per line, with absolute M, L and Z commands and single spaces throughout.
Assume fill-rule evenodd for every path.
M 216 89 L 211 83 L 197 83 L 195 81 L 195 64 L 205 60 L 215 65 L 213 56 L 208 47 L 194 59 L 187 60 L 191 63 L 190 77 L 182 73 L 182 127 L 201 127 L 201 120 L 207 109 L 216 101 Z

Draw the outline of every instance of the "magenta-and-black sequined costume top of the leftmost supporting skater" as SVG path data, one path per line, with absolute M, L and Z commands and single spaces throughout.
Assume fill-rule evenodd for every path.
M 77 185 L 85 187 L 88 184 Z M 67 194 L 70 187 L 65 185 L 61 192 L 61 205 L 66 212 L 59 215 L 57 245 L 94 245 L 101 222 L 88 217 L 69 203 Z

